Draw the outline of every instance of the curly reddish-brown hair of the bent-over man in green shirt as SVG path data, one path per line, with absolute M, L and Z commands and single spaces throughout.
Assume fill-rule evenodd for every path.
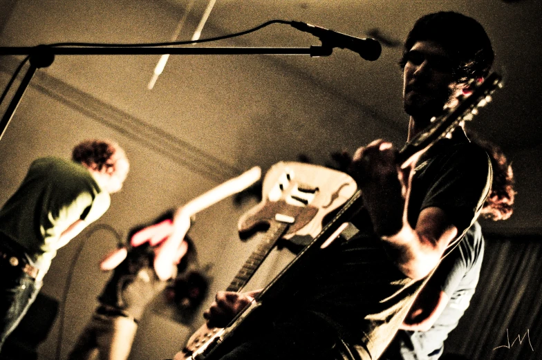
M 96 170 L 101 171 L 109 166 L 109 160 L 118 149 L 118 145 L 114 142 L 84 140 L 73 148 L 71 158 L 81 164 L 95 165 Z

